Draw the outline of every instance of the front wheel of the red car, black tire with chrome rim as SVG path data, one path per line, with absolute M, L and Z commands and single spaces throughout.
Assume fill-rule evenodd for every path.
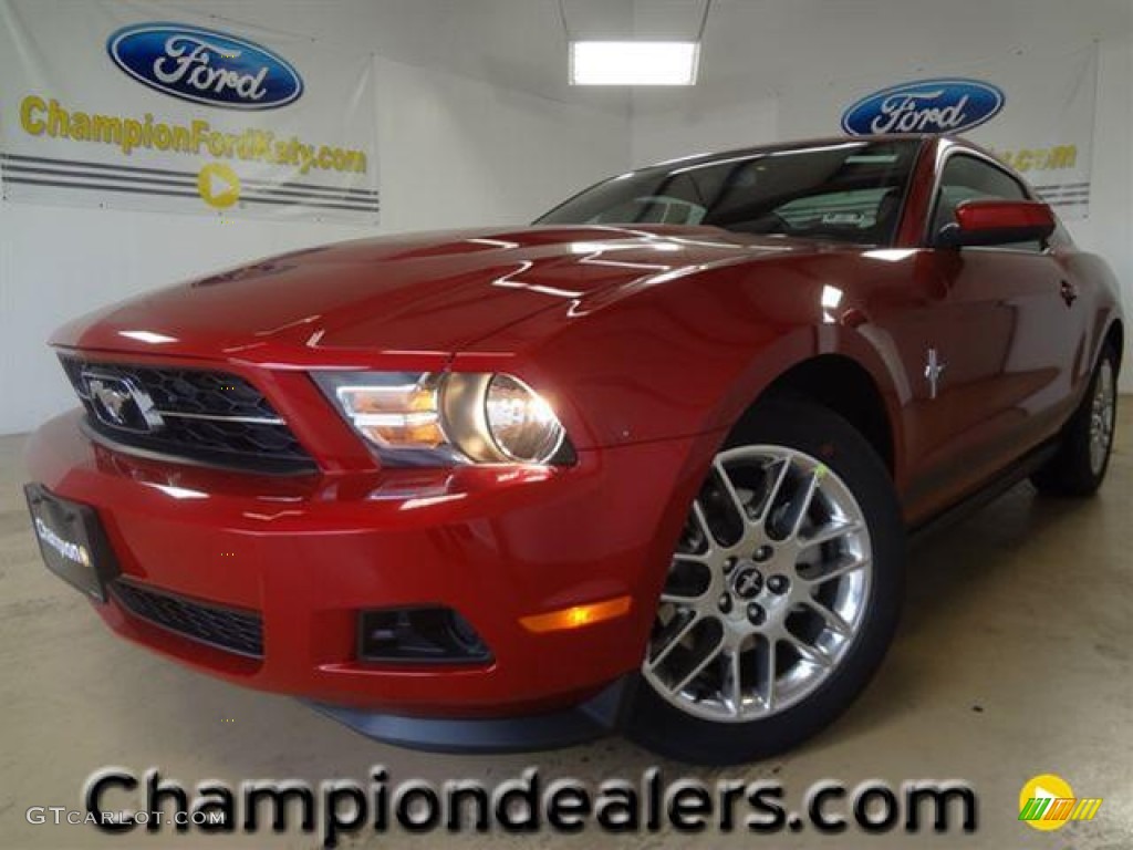
M 880 664 L 904 560 L 892 481 L 861 434 L 817 405 L 761 402 L 690 509 L 630 737 L 727 765 L 813 736 Z

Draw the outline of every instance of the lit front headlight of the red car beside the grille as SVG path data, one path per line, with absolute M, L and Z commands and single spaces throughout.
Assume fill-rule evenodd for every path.
M 314 377 L 390 464 L 573 460 L 551 405 L 511 375 L 316 372 Z

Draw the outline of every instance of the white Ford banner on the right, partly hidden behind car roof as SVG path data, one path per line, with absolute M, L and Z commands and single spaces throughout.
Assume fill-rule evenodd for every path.
M 1064 219 L 1090 214 L 1096 44 L 1060 56 L 1030 52 L 914 78 L 835 80 L 780 95 L 785 138 L 949 133 L 971 138 L 1022 173 Z

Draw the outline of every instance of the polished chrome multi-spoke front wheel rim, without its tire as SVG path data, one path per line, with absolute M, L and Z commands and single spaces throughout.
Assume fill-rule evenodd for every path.
M 829 467 L 781 445 L 725 450 L 685 521 L 642 673 L 700 719 L 782 712 L 845 656 L 871 568 L 862 510 Z

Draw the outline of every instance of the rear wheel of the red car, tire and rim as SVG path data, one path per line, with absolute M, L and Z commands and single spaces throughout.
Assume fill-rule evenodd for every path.
M 1106 477 L 1117 424 L 1117 352 L 1106 346 L 1077 410 L 1066 424 L 1058 452 L 1031 476 L 1042 493 L 1093 495 Z

